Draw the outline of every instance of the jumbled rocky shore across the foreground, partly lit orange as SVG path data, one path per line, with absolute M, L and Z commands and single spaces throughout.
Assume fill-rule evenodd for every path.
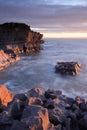
M 60 90 L 12 94 L 0 86 L 0 130 L 87 130 L 87 102 Z

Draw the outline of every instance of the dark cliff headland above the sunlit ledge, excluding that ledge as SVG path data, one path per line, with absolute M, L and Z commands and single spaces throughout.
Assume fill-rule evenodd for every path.
M 34 32 L 23 23 L 4 23 L 0 25 L 0 49 L 15 53 L 36 52 L 41 49 L 43 35 Z

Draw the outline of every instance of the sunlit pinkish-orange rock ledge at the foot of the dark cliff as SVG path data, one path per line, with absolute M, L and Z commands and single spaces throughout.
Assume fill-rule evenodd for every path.
M 0 50 L 0 70 L 20 60 L 20 57 L 14 53 L 6 54 L 3 50 Z

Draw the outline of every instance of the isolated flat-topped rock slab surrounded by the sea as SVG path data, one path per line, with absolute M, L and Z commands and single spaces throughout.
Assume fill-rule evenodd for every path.
M 81 65 L 78 62 L 57 62 L 55 71 L 63 75 L 76 75 Z

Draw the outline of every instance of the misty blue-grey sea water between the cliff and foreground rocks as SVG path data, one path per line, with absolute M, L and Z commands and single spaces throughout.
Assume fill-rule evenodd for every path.
M 0 84 L 7 85 L 14 93 L 42 87 L 87 99 L 87 39 L 45 39 L 42 47 L 39 53 L 23 56 L 2 70 Z M 55 73 L 57 61 L 78 61 L 81 70 L 76 76 L 62 76 Z

